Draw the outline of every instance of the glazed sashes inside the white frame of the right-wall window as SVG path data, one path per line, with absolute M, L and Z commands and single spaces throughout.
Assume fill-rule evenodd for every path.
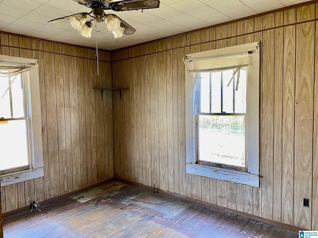
M 196 75 L 196 163 L 245 171 L 246 67 Z

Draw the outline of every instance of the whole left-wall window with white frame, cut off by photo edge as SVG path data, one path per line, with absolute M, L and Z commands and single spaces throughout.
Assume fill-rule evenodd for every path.
M 0 55 L 1 186 L 43 176 L 37 60 Z

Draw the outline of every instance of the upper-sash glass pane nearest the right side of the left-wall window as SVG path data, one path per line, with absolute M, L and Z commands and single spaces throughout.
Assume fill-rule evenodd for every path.
M 11 95 L 12 95 L 12 111 L 13 118 L 24 117 L 24 106 L 23 106 L 23 85 L 21 74 L 11 77 L 13 80 L 11 85 Z

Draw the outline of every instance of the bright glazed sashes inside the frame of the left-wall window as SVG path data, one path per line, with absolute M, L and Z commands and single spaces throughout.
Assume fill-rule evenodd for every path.
M 28 72 L 0 76 L 0 175 L 29 169 Z

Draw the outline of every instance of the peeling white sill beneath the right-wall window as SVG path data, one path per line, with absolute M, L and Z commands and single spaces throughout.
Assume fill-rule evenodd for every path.
M 187 163 L 186 173 L 259 187 L 259 175 L 252 175 L 235 170 Z

